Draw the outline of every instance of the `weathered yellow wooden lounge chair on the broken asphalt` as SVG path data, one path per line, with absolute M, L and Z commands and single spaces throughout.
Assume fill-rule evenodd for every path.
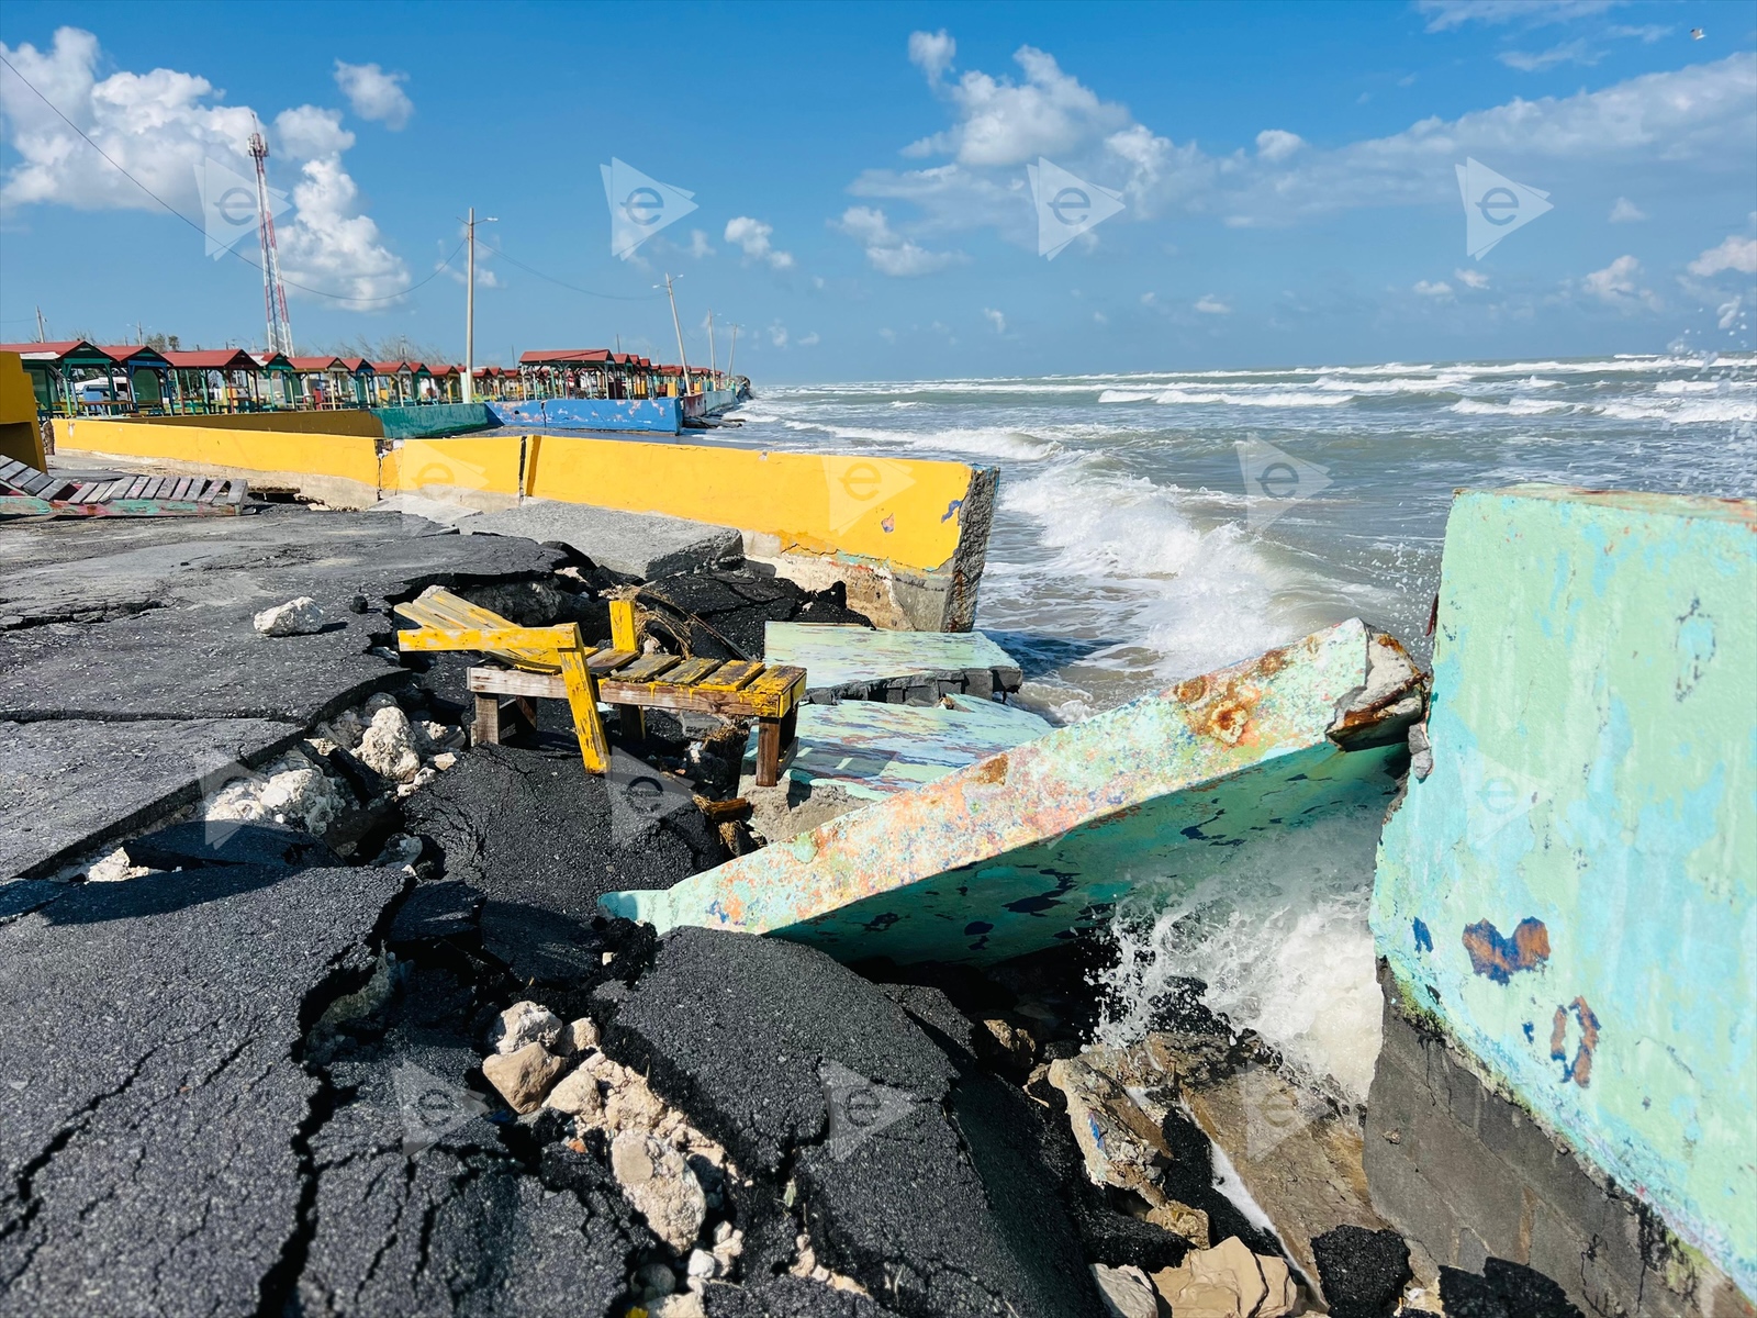
M 397 633 L 402 650 L 480 650 L 508 668 L 471 668 L 476 696 L 476 742 L 499 740 L 501 696 L 566 699 L 580 736 L 580 756 L 590 773 L 610 764 L 610 747 L 597 703 L 618 712 L 624 731 L 640 735 L 640 710 L 661 708 L 717 713 L 757 721 L 757 786 L 780 782 L 780 759 L 796 740 L 798 706 L 805 698 L 805 670 L 734 659 L 678 659 L 675 654 L 638 654 L 634 606 L 613 601 L 613 643 L 594 650 L 580 626 L 515 627 L 506 619 L 430 587 L 418 599 L 397 605 L 413 631 Z

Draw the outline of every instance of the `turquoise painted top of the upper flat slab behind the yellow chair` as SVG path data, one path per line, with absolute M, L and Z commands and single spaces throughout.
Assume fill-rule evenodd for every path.
M 980 631 L 875 631 L 824 622 L 770 622 L 763 657 L 805 670 L 808 691 L 926 682 L 970 671 L 1005 675 L 1019 687 L 1019 661 Z

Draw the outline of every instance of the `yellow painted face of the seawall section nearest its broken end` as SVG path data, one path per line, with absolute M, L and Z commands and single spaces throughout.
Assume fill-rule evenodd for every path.
M 525 459 L 525 494 L 538 499 L 734 525 L 778 536 L 784 554 L 857 554 L 917 569 L 942 568 L 956 552 L 956 504 L 970 478 L 963 462 L 553 434 L 531 436 Z

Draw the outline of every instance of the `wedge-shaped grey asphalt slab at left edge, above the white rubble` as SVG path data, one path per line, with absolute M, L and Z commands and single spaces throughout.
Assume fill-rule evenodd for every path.
M 0 884 L 44 875 L 192 801 L 204 775 L 299 736 L 265 719 L 0 722 Z

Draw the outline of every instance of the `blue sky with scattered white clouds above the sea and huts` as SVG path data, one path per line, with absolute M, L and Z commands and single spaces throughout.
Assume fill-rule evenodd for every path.
M 9 0 L 0 44 L 0 339 L 260 343 L 195 177 L 255 114 L 302 350 L 460 358 L 467 206 L 478 360 L 669 360 L 666 271 L 759 381 L 1752 346 L 1748 4 Z M 631 260 L 611 158 L 698 206 Z M 1479 260 L 1467 158 L 1553 206 Z M 1054 260 L 1038 160 L 1123 202 Z

